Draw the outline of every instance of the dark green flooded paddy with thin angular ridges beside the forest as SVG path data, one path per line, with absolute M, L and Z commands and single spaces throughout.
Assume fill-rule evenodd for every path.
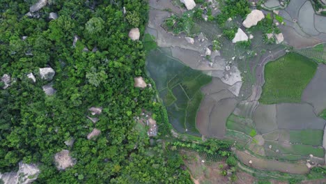
M 196 112 L 203 98 L 200 89 L 211 81 L 211 77 L 183 65 L 160 49 L 148 54 L 147 68 L 173 127 L 179 132 L 187 129 L 188 133 L 199 135 Z

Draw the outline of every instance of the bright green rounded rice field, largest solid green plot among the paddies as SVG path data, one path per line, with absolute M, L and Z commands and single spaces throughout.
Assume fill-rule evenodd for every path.
M 300 54 L 289 53 L 267 63 L 265 84 L 259 100 L 265 104 L 300 102 L 302 91 L 310 82 L 317 64 Z

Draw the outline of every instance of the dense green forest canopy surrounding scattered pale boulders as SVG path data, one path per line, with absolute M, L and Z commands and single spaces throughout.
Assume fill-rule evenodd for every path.
M 141 128 L 134 128 L 133 117 L 146 109 L 160 135 L 169 132 L 164 107 L 153 101 L 155 89 L 133 86 L 134 77 L 146 78 L 145 52 L 128 32 L 139 25 L 143 33 L 147 1 L 56 0 L 39 11 L 40 18 L 24 16 L 35 2 L 0 2 L 0 75 L 16 79 L 0 90 L 0 172 L 24 160 L 39 164 L 36 183 L 191 183 L 178 154 L 164 149 L 162 142 L 150 146 L 148 137 L 137 131 Z M 123 6 L 131 11 L 126 18 Z M 59 18 L 49 21 L 50 12 Z M 72 47 L 75 35 L 81 39 Z M 95 46 L 97 52 L 82 52 Z M 47 82 L 37 77 L 33 84 L 26 78 L 45 66 L 56 70 L 53 96 L 42 91 Z M 103 107 L 95 125 L 86 118 L 91 106 Z M 93 128 L 101 135 L 86 139 Z M 64 144 L 70 137 L 76 139 L 71 148 Z M 70 150 L 77 164 L 57 171 L 53 156 L 62 149 Z

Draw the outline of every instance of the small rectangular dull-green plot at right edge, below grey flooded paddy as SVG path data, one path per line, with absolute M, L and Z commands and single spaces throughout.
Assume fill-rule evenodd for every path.
M 290 142 L 321 146 L 323 144 L 323 130 L 290 130 Z

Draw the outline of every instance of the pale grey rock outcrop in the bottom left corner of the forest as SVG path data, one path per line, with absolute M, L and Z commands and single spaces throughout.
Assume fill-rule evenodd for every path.
M 25 164 L 20 162 L 20 169 L 16 172 L 0 174 L 0 180 L 5 184 L 27 184 L 38 178 L 40 169 L 35 164 Z

